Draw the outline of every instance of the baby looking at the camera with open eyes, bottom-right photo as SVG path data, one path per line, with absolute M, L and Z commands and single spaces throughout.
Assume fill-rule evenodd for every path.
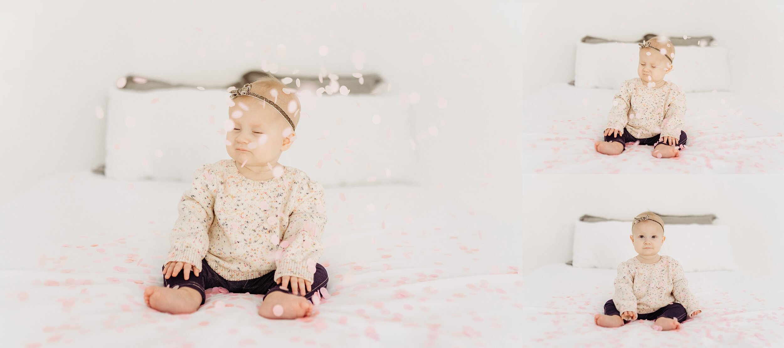
M 596 325 L 617 328 L 642 319 L 654 320 L 657 331 L 673 330 L 702 312 L 681 264 L 659 255 L 665 239 L 662 218 L 649 211 L 637 215 L 630 238 L 638 255 L 618 266 L 615 295 L 604 303 L 604 314 L 593 317 Z

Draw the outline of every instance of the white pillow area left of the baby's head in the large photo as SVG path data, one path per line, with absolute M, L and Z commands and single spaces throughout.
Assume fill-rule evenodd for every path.
M 218 132 L 228 118 L 228 95 L 224 90 L 195 88 L 112 88 L 107 108 L 107 178 L 189 182 L 198 166 L 230 158 L 225 133 Z

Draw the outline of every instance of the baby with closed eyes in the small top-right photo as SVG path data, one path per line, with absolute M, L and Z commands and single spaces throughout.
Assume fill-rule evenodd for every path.
M 639 77 L 621 84 L 612 99 L 604 142 L 596 142 L 594 148 L 605 155 L 618 155 L 627 142 L 633 142 L 653 145 L 652 155 L 657 158 L 677 157 L 686 145 L 686 133 L 681 131 L 686 95 L 664 81 L 664 75 L 673 70 L 675 46 L 658 36 L 639 45 Z

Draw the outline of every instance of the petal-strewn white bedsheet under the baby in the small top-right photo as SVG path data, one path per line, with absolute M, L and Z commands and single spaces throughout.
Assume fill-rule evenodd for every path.
M 553 84 L 524 99 L 523 168 L 529 173 L 782 173 L 784 113 L 734 92 L 687 93 L 688 149 L 675 159 L 631 145 L 619 156 L 593 149 L 603 140 L 611 89 Z M 780 97 L 779 97 L 780 98 Z M 773 102 L 768 103 L 775 106 Z

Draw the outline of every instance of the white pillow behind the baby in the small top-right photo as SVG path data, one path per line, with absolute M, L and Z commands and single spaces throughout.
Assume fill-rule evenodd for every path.
M 640 45 L 626 42 L 588 44 L 577 42 L 575 87 L 619 89 L 637 77 Z M 666 74 L 683 91 L 729 91 L 727 48 L 676 46 L 673 71 Z

